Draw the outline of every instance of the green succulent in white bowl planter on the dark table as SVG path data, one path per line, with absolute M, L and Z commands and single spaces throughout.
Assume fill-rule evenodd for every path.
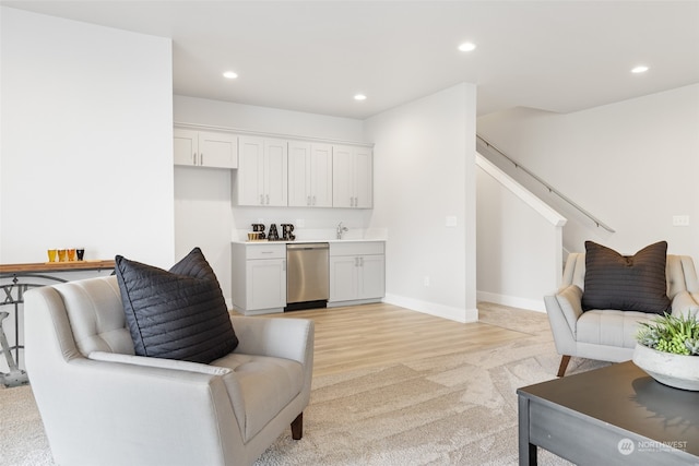
M 699 391 L 697 316 L 664 314 L 639 325 L 636 366 L 665 385 Z

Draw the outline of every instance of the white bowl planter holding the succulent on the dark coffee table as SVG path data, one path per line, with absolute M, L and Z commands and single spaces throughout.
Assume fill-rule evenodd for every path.
M 699 391 L 699 356 L 673 355 L 637 343 L 633 363 L 660 383 Z

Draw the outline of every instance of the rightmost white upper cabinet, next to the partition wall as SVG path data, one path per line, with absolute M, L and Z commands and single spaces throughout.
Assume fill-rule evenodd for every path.
M 332 189 L 333 207 L 371 208 L 374 156 L 369 147 L 333 146 Z

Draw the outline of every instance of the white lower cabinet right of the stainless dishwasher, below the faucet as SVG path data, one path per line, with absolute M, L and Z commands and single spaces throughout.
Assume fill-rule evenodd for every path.
M 383 241 L 330 243 L 329 304 L 377 302 L 386 294 Z

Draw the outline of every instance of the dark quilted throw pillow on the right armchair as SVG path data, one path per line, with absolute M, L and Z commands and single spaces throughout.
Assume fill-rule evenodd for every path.
M 671 311 L 665 263 L 667 242 L 647 246 L 633 255 L 585 241 L 585 282 L 582 309 Z

